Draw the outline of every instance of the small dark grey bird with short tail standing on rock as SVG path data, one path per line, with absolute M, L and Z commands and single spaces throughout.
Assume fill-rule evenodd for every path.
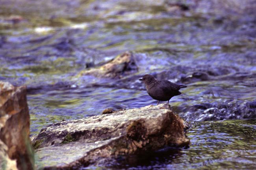
M 157 80 L 154 76 L 152 75 L 144 75 L 142 80 L 145 85 L 148 94 L 155 100 L 158 101 L 168 101 L 173 97 L 180 95 L 180 89 L 181 88 L 186 88 L 187 86 L 185 85 L 179 85 L 172 83 L 168 80 Z M 157 103 L 157 105 L 158 105 Z

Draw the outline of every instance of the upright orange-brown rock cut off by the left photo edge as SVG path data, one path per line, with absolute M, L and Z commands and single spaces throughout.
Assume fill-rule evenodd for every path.
M 0 81 L 0 167 L 33 170 L 26 86 Z M 17 164 L 17 167 L 16 167 Z

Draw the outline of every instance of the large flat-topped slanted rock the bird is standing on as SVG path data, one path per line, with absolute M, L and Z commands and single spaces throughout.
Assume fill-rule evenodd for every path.
M 48 125 L 33 140 L 39 169 L 80 166 L 165 146 L 187 146 L 184 121 L 167 104 Z

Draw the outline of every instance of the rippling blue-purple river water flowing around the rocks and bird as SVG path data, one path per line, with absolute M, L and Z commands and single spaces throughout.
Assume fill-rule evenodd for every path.
M 256 169 L 255 0 L 23 1 L 0 2 L 0 80 L 27 86 L 32 136 L 63 119 L 156 104 L 138 80 L 152 74 L 187 85 L 170 104 L 191 146 L 82 169 Z M 79 76 L 125 51 L 137 72 Z

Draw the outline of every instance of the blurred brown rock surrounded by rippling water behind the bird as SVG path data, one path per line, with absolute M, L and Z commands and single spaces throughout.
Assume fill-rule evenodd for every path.
M 115 78 L 137 71 L 138 68 L 135 63 L 134 55 L 127 51 L 103 66 L 81 71 L 79 76 L 93 75 L 95 77 Z

